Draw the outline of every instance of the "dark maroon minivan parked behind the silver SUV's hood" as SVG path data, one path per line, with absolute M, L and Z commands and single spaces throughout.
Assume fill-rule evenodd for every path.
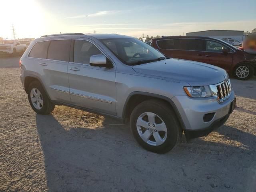
M 256 55 L 248 54 L 219 39 L 196 36 L 165 36 L 152 39 L 151 46 L 164 55 L 212 64 L 240 80 L 256 71 Z

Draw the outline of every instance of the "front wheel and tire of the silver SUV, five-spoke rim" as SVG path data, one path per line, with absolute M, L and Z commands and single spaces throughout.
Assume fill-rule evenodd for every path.
M 150 116 L 154 118 L 149 118 Z M 182 128 L 175 112 L 166 102 L 160 100 L 147 100 L 138 104 L 130 116 L 130 128 L 134 138 L 143 148 L 159 154 L 174 148 L 182 136 Z

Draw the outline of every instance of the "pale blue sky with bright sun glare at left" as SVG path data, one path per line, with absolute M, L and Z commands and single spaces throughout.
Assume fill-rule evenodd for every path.
M 256 28 L 256 0 L 0 0 L 0 37 L 117 33 L 134 37 Z

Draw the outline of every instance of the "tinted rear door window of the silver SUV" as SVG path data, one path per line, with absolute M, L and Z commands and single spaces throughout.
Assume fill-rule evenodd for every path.
M 48 48 L 48 59 L 69 61 L 71 40 L 54 40 L 51 41 Z

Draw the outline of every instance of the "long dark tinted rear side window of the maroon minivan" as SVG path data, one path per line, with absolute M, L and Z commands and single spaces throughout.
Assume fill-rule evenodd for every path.
M 203 51 L 201 39 L 168 39 L 160 40 L 157 44 L 161 49 Z

